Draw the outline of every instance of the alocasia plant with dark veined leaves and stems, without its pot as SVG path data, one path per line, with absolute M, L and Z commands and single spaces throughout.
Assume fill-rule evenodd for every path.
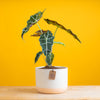
M 62 42 L 54 41 L 55 34 L 56 34 L 58 28 L 61 28 L 61 29 L 65 30 L 67 33 L 71 34 L 80 43 L 81 43 L 81 41 L 77 37 L 77 35 L 75 35 L 70 29 L 67 29 L 63 25 L 59 24 L 58 22 L 50 20 L 50 19 L 44 19 L 44 20 L 48 24 L 52 24 L 52 25 L 55 25 L 57 27 L 55 32 L 54 32 L 54 34 L 50 30 L 42 30 L 41 27 L 38 24 L 38 21 L 43 16 L 44 11 L 43 12 L 39 11 L 35 15 L 30 16 L 30 19 L 27 21 L 27 26 L 22 31 L 21 37 L 23 39 L 24 34 L 29 31 L 30 27 L 32 27 L 33 25 L 36 24 L 39 27 L 39 30 L 35 34 L 33 34 L 31 36 L 39 37 L 39 42 L 40 42 L 40 45 L 42 47 L 42 51 L 39 51 L 36 54 L 35 63 L 38 61 L 40 55 L 44 55 L 45 56 L 44 59 L 45 59 L 45 62 L 47 64 L 47 66 L 51 67 L 53 59 L 54 59 L 54 54 L 52 53 L 52 46 L 53 46 L 53 44 L 65 45 Z

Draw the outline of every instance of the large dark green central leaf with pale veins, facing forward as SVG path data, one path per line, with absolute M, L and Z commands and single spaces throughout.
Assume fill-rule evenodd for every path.
M 39 41 L 42 47 L 42 52 L 44 53 L 45 56 L 47 56 L 52 50 L 53 39 L 54 36 L 49 30 L 46 33 L 40 35 Z

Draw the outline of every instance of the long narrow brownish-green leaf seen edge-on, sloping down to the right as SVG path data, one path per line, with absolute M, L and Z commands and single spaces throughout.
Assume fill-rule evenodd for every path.
M 59 24 L 58 22 L 56 21 L 53 21 L 53 20 L 50 20 L 50 19 L 44 19 L 48 24 L 52 24 L 52 25 L 55 25 L 57 26 L 58 28 L 61 28 L 65 31 L 67 31 L 69 34 L 71 34 L 75 39 L 77 39 L 80 43 L 80 39 L 77 37 L 77 35 L 75 35 L 70 29 L 66 29 L 63 25 Z

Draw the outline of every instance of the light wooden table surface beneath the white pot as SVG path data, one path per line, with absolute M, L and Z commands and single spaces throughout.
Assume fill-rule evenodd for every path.
M 69 86 L 62 94 L 38 93 L 34 86 L 0 86 L 0 100 L 100 100 L 100 86 Z

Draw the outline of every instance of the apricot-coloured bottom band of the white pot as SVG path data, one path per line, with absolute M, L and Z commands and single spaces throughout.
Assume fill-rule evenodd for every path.
M 63 93 L 66 91 L 66 89 L 48 89 L 48 88 L 36 88 L 38 92 L 40 93 Z

